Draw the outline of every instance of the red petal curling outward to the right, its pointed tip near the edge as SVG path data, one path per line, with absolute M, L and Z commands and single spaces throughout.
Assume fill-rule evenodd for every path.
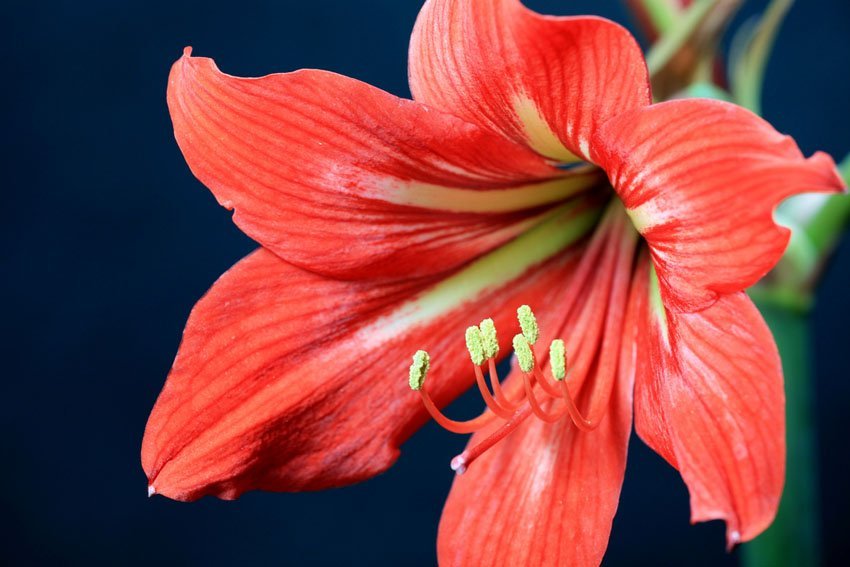
M 791 138 L 720 101 L 625 113 L 593 147 L 649 242 L 665 304 L 676 310 L 705 308 L 776 264 L 789 238 L 773 221 L 780 201 L 844 187 L 828 155 L 805 159 Z

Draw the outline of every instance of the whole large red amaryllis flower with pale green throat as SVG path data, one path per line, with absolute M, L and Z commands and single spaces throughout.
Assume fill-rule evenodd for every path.
M 598 563 L 633 419 L 694 521 L 724 519 L 730 543 L 761 532 L 784 400 L 742 290 L 788 241 L 777 203 L 842 188 L 831 158 L 730 104 L 651 104 L 626 30 L 517 0 L 426 2 L 410 86 L 412 101 L 316 70 L 241 79 L 189 49 L 175 63 L 177 142 L 261 247 L 189 318 L 145 431 L 150 492 L 374 476 L 428 419 L 411 355 L 430 353 L 421 392 L 443 406 L 480 372 L 464 329 L 492 318 L 490 354 L 507 356 L 528 305 L 540 345 L 563 339 L 566 380 L 547 382 L 538 347 L 489 400 L 503 415 L 468 424 L 441 562 Z

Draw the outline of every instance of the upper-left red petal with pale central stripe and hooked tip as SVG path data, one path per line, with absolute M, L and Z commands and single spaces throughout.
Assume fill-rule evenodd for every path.
M 458 118 L 322 71 L 242 79 L 187 55 L 168 105 L 187 163 L 239 227 L 337 277 L 461 265 L 595 179 L 538 184 L 563 173 Z

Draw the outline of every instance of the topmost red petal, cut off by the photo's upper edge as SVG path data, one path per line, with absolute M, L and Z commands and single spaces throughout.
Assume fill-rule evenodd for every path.
M 570 161 L 603 122 L 650 102 L 634 38 L 601 18 L 541 16 L 519 0 L 429 0 L 410 44 L 416 100 Z

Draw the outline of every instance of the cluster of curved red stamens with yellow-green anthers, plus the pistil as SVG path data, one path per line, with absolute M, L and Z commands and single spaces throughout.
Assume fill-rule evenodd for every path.
M 526 419 L 534 417 L 546 423 L 566 422 L 581 431 L 592 431 L 602 419 L 586 419 L 574 401 L 568 379 L 570 367 L 564 341 L 553 340 L 549 345 L 549 371 L 544 372 L 538 363 L 535 345 L 540 338 L 537 318 L 528 305 L 517 309 L 520 333 L 513 338 L 513 353 L 522 380 L 502 384 L 496 368 L 499 340 L 492 319 L 466 329 L 464 340 L 475 383 L 486 405 L 477 417 L 456 421 L 447 417 L 428 394 L 426 378 L 431 369 L 431 357 L 424 351 L 413 355 L 410 365 L 409 384 L 417 392 L 425 409 L 441 427 L 458 434 L 469 434 L 491 428 L 492 432 L 481 442 L 467 448 L 451 461 L 451 468 L 463 474 L 478 457 L 499 441 L 513 433 Z M 484 367 L 484 369 L 482 369 Z M 485 377 L 485 370 L 489 377 Z

